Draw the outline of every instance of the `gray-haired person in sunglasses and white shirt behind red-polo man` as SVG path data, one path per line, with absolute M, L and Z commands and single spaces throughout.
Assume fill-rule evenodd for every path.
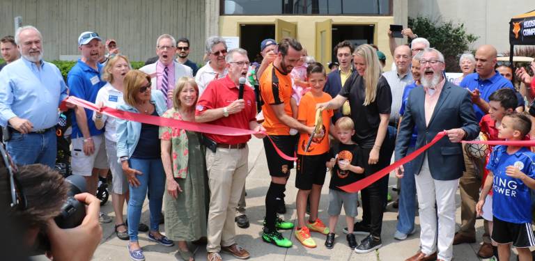
M 199 96 L 203 94 L 210 81 L 221 79 L 226 76 L 225 57 L 226 42 L 219 36 L 211 36 L 206 39 L 206 54 L 208 63 L 201 67 L 195 75 L 195 81 L 199 86 Z M 206 59 L 205 59 L 206 60 Z

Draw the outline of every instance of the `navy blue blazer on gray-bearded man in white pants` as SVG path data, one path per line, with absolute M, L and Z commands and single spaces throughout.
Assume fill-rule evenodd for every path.
M 396 161 L 407 154 L 414 127 L 418 129 L 417 149 L 429 143 L 444 129 L 463 129 L 466 132 L 465 140 L 473 140 L 479 134 L 479 124 L 468 90 L 446 81 L 428 126 L 426 126 L 424 101 L 424 88 L 414 88 L 410 91 L 396 139 Z M 428 156 L 433 179 L 456 180 L 463 175 L 465 161 L 461 143 L 451 143 L 447 136 L 440 139 L 429 150 L 414 159 L 416 174 L 421 170 L 425 153 Z

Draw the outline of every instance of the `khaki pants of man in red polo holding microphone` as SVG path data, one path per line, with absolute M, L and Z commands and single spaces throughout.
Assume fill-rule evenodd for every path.
M 249 148 L 206 150 L 206 168 L 210 187 L 208 211 L 208 252 L 235 244 L 235 209 L 247 177 Z

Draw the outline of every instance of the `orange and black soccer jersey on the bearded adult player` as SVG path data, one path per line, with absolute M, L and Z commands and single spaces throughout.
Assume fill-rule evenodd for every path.
M 284 111 L 288 116 L 292 116 L 292 108 L 290 107 L 292 79 L 290 74 L 282 74 L 271 63 L 260 77 L 260 93 L 263 102 L 263 126 L 267 134 L 290 135 L 290 127 L 280 122 L 271 108 L 271 105 L 284 104 Z

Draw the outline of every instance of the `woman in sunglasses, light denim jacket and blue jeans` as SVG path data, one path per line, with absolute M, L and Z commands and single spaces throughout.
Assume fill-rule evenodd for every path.
M 162 92 L 153 93 L 150 90 L 150 77 L 140 70 L 131 70 L 125 75 L 123 99 L 124 104 L 117 106 L 121 111 L 162 116 L 167 109 Z M 117 119 L 117 157 L 130 184 L 127 210 L 130 236 L 128 252 L 132 260 L 145 260 L 145 255 L 139 246 L 137 228 L 147 192 L 150 211 L 148 239 L 164 246 L 173 246 L 171 240 L 160 234 L 158 226 L 165 190 L 158 126 Z

